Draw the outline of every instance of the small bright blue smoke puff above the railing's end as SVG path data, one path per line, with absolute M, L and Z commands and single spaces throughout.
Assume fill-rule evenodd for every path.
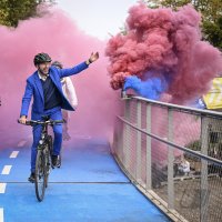
M 168 83 L 160 78 L 150 78 L 141 81 L 138 77 L 131 75 L 125 78 L 123 90 L 128 89 L 133 89 L 141 97 L 159 100 L 161 94 L 167 91 Z

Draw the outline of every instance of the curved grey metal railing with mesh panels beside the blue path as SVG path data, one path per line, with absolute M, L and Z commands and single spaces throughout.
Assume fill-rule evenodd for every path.
M 222 113 L 123 101 L 112 153 L 131 181 L 174 221 L 222 221 Z

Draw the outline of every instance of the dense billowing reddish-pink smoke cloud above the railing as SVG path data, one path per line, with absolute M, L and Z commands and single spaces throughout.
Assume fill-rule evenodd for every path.
M 122 88 L 125 73 L 143 78 L 152 71 L 169 81 L 171 102 L 201 97 L 222 71 L 222 57 L 201 40 L 200 23 L 201 16 L 191 6 L 176 12 L 170 8 L 149 9 L 143 3 L 132 7 L 127 34 L 117 34 L 107 46 L 111 87 Z

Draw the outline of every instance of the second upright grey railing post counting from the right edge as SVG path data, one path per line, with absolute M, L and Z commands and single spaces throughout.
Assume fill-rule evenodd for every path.
M 173 111 L 168 109 L 168 140 L 173 142 Z M 174 209 L 173 161 L 174 148 L 168 145 L 168 208 Z

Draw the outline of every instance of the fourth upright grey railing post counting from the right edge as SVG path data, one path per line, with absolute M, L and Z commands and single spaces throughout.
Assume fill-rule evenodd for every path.
M 141 101 L 137 103 L 137 127 L 141 129 Z M 137 180 L 141 180 L 141 132 L 137 132 Z

